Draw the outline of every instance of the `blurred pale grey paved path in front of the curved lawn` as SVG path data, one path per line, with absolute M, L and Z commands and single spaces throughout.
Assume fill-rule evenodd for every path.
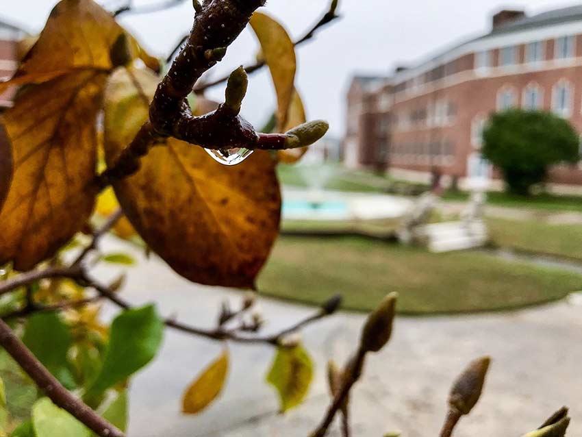
M 107 246 L 116 243 L 107 241 Z M 110 269 L 101 271 L 109 276 Z M 190 284 L 155 257 L 131 269 L 123 295 L 155 300 L 164 314 L 212 326 L 216 308 L 240 294 Z M 275 331 L 313 310 L 262 300 Z M 309 399 L 286 416 L 264 384 L 273 350 L 230 345 L 232 366 L 220 401 L 201 416 L 179 414 L 184 388 L 222 345 L 168 330 L 157 360 L 131 386 L 129 437 L 305 437 L 328 402 L 325 362 L 345 360 L 357 345 L 364 316 L 339 314 L 304 331 L 317 363 Z M 494 358 L 483 399 L 455 437 L 520 436 L 561 405 L 570 405 L 570 435 L 582 435 L 582 307 L 561 302 L 530 310 L 479 316 L 398 318 L 390 346 L 370 357 L 353 395 L 353 435 L 400 430 L 406 437 L 435 436 L 451 381 L 479 355 Z M 332 436 L 339 436 L 334 427 Z

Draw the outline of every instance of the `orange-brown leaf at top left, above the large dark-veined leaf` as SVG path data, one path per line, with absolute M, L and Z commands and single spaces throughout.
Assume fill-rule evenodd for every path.
M 111 71 L 110 49 L 125 30 L 92 0 L 62 0 L 49 15 L 38 40 L 23 58 L 8 86 L 47 82 L 72 71 Z M 133 37 L 131 52 L 142 55 Z

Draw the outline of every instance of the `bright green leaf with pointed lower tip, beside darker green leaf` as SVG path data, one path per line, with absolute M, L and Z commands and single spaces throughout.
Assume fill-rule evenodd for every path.
M 103 366 L 88 390 L 98 395 L 148 364 L 160 349 L 164 322 L 153 305 L 128 310 L 111 325 Z

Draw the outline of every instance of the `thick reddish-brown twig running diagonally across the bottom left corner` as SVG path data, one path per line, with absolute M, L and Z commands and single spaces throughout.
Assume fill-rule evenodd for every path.
M 27 349 L 24 343 L 12 332 L 6 323 L 0 320 L 0 346 L 21 366 L 23 371 L 35 382 L 40 390 L 45 392 L 51 401 L 69 412 L 75 419 L 84 423 L 95 434 L 101 437 L 123 437 L 123 432 L 111 423 L 101 418 L 91 410 L 81 399 L 66 390 L 51 375 L 40 361 Z

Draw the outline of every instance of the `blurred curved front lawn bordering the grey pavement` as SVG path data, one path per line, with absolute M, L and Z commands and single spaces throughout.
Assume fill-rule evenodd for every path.
M 440 314 L 505 310 L 561 299 L 582 276 L 479 252 L 446 254 L 366 238 L 279 238 L 258 281 L 265 295 L 369 311 L 398 291 L 398 311 Z

